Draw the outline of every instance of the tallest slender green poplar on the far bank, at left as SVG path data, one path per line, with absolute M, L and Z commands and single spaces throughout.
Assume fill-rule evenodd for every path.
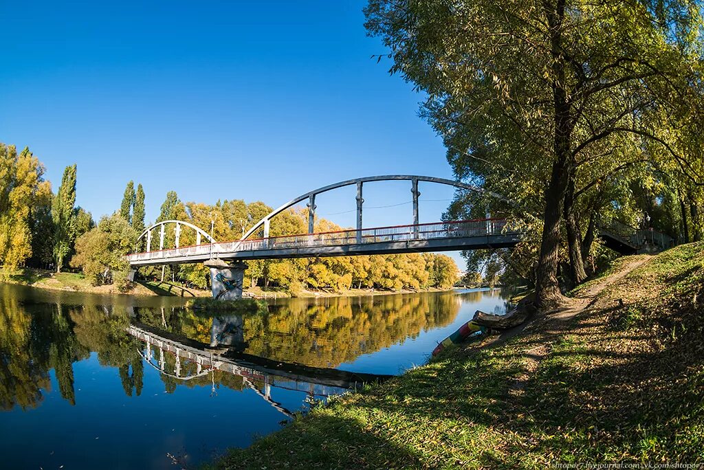
M 61 186 L 51 201 L 51 219 L 54 221 L 54 262 L 61 272 L 63 261 L 75 241 L 76 165 L 63 170 Z

